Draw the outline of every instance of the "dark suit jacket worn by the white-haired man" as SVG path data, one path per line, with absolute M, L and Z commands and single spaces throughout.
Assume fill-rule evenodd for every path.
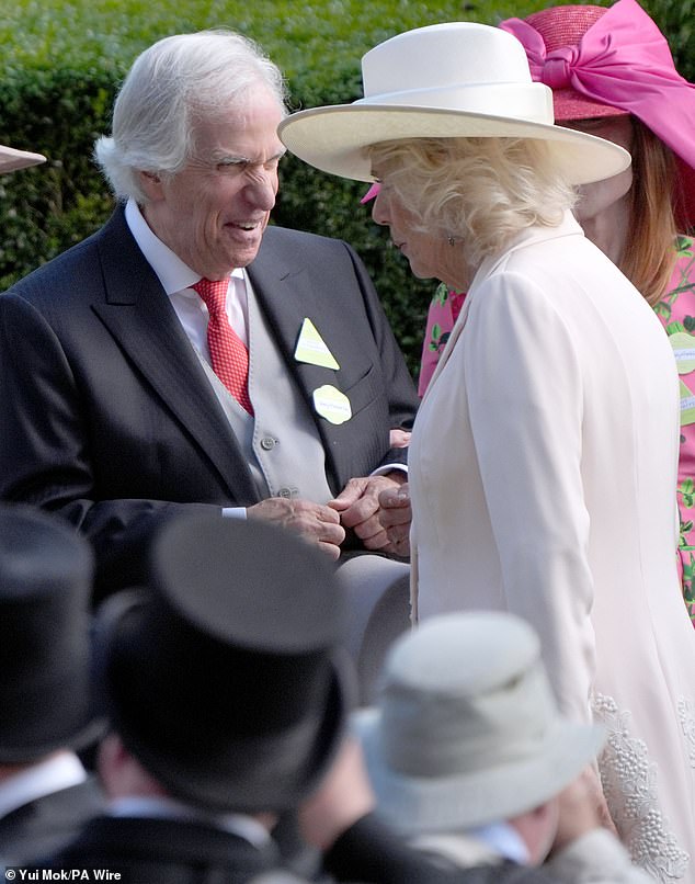
M 270 226 L 248 268 L 287 371 L 311 404 L 334 494 L 401 461 L 417 396 L 364 265 L 340 240 Z M 311 318 L 340 369 L 294 359 Z M 94 236 L 0 296 L 0 497 L 57 511 L 98 554 L 102 591 L 137 580 L 151 531 L 182 506 L 250 506 L 248 465 L 169 298 L 118 207 Z

